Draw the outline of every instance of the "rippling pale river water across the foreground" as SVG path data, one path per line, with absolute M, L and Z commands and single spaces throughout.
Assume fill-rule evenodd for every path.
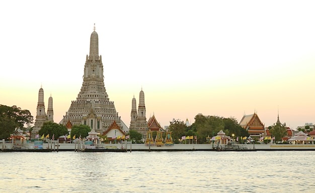
M 314 151 L 0 152 L 1 192 L 315 192 Z

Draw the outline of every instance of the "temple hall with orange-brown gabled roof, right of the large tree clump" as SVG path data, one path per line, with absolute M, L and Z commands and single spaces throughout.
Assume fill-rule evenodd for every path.
M 245 128 L 250 136 L 261 137 L 266 135 L 265 124 L 260 120 L 256 112 L 250 115 L 244 115 L 240 125 Z

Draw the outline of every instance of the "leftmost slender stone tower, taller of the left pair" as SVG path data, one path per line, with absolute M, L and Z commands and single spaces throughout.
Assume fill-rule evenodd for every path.
M 44 90 L 41 87 L 38 91 L 38 102 L 36 110 L 36 119 L 33 127 L 32 137 L 34 138 L 38 131 L 41 129 L 44 122 L 47 121 L 47 116 L 45 112 L 45 103 L 44 103 Z

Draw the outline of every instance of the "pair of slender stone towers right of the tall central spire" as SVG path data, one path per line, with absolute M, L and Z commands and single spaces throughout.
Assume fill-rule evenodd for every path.
M 136 108 L 136 99 L 134 98 L 134 96 L 132 98 L 130 116 L 129 129 L 141 133 L 143 135 L 143 138 L 145 139 L 149 128 L 145 116 L 144 92 L 142 91 L 142 88 L 139 93 L 138 110 Z

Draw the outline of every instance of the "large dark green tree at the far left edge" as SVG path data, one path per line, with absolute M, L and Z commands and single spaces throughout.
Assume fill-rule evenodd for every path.
M 33 123 L 29 110 L 17 106 L 0 105 L 0 139 L 8 139 L 16 128 L 24 130 L 24 125 Z

